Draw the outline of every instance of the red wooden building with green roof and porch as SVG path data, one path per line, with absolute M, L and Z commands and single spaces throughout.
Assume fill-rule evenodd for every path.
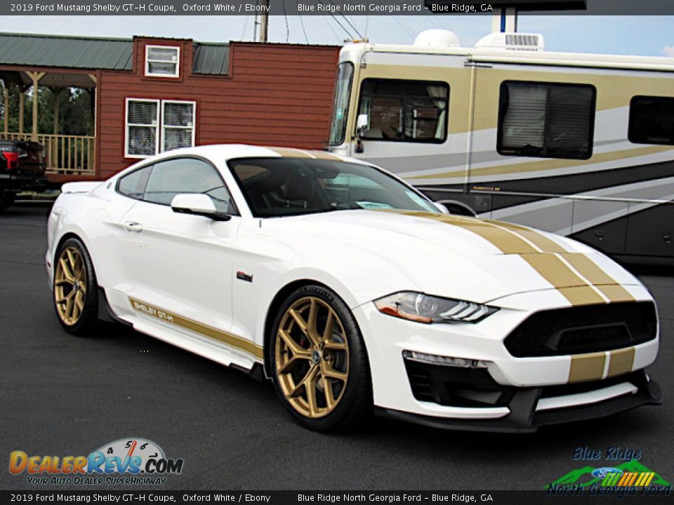
M 327 139 L 337 46 L 198 43 L 191 39 L 97 39 L 0 34 L 4 110 L 19 93 L 18 131 L 48 153 L 51 180 L 105 178 L 176 147 L 246 142 L 321 149 Z M 24 131 L 25 95 L 46 87 L 87 90 L 92 131 L 63 135 L 58 100 L 53 131 Z

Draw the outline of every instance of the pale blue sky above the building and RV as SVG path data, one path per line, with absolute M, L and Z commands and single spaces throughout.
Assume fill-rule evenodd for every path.
M 342 45 L 367 36 L 374 43 L 412 43 L 424 29 L 444 28 L 473 46 L 491 32 L 490 15 L 270 16 L 270 41 Z M 197 41 L 253 40 L 254 16 L 5 16 L 11 32 Z M 286 22 L 287 21 L 287 22 Z M 7 29 L 11 27 L 11 29 Z M 519 32 L 543 34 L 546 50 L 674 57 L 674 16 L 520 15 Z M 350 35 L 347 33 L 350 32 Z M 356 33 L 358 32 L 358 33 Z

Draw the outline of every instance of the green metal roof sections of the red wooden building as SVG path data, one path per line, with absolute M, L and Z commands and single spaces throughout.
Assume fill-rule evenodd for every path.
M 194 42 L 192 73 L 227 75 L 228 43 Z M 131 70 L 133 40 L 0 32 L 0 65 Z

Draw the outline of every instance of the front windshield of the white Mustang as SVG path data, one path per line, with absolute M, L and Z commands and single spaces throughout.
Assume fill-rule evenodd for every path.
M 246 158 L 228 164 L 255 217 L 349 209 L 437 213 L 417 191 L 371 166 L 307 158 Z

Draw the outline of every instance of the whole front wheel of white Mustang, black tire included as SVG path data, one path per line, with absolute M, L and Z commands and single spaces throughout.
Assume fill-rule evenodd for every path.
M 355 318 L 335 292 L 320 285 L 294 291 L 272 332 L 274 384 L 296 422 L 338 431 L 371 415 L 366 349 Z

